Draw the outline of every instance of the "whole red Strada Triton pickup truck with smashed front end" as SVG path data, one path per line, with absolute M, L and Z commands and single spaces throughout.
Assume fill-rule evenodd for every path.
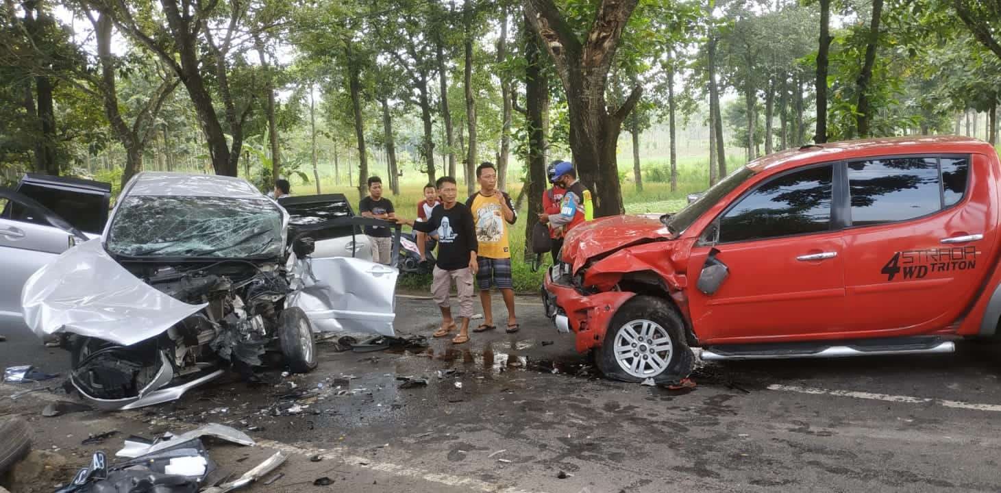
M 569 233 L 547 315 L 607 376 L 703 360 L 936 353 L 997 335 L 1001 163 L 962 137 L 804 146 L 677 214 Z

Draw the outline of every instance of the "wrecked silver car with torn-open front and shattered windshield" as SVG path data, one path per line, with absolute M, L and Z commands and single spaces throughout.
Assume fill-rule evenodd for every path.
M 28 279 L 24 320 L 41 337 L 70 335 L 70 382 L 102 409 L 173 400 L 227 368 L 308 372 L 313 331 L 393 335 L 395 269 L 310 257 L 344 220 L 373 221 L 290 229 L 243 179 L 140 173 L 100 238 Z

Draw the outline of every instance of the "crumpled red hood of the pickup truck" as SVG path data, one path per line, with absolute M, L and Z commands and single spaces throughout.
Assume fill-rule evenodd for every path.
M 574 272 L 589 259 L 631 245 L 667 240 L 668 228 L 657 219 L 639 216 L 611 216 L 589 221 L 567 234 L 563 260 Z

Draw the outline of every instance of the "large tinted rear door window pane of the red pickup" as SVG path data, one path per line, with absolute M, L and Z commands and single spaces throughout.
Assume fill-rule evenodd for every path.
M 854 226 L 913 219 L 942 206 L 936 158 L 848 163 L 848 185 Z

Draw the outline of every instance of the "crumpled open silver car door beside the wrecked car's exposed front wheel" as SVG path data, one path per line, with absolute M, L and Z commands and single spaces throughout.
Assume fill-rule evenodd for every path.
M 293 256 L 293 294 L 289 306 L 301 308 L 314 331 L 343 331 L 394 335 L 396 277 L 400 226 L 380 219 L 342 217 L 318 224 L 290 228 L 289 244 L 311 243 L 331 229 L 345 226 L 393 228 L 389 265 L 349 257 L 302 258 Z M 297 247 L 295 247 L 297 248 Z M 302 252 L 300 252 L 302 253 Z

